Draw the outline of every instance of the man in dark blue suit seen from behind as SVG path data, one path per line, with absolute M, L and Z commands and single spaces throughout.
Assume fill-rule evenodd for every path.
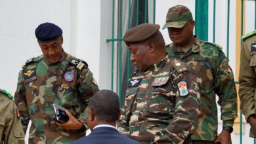
M 87 119 L 92 132 L 72 143 L 139 144 L 138 141 L 120 135 L 116 130 L 116 121 L 119 120 L 121 112 L 121 109 L 119 109 L 119 98 L 115 92 L 110 90 L 96 92 L 88 105 Z

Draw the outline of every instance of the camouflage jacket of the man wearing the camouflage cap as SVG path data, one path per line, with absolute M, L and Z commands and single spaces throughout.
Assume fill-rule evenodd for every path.
M 192 48 L 185 53 L 174 44 L 167 45 L 166 48 L 172 58 L 190 65 L 202 79 L 202 113 L 192 139 L 214 141 L 218 128 L 215 94 L 219 96 L 218 104 L 221 105 L 223 127 L 233 126 L 237 117 L 236 86 L 228 59 L 221 46 L 201 41 L 198 37 Z

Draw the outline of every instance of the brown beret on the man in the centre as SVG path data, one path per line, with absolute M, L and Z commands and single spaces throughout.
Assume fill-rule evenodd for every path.
M 131 46 L 134 43 L 144 41 L 158 32 L 160 25 L 158 24 L 140 24 L 137 27 L 129 29 L 123 36 L 123 41 L 127 46 Z

